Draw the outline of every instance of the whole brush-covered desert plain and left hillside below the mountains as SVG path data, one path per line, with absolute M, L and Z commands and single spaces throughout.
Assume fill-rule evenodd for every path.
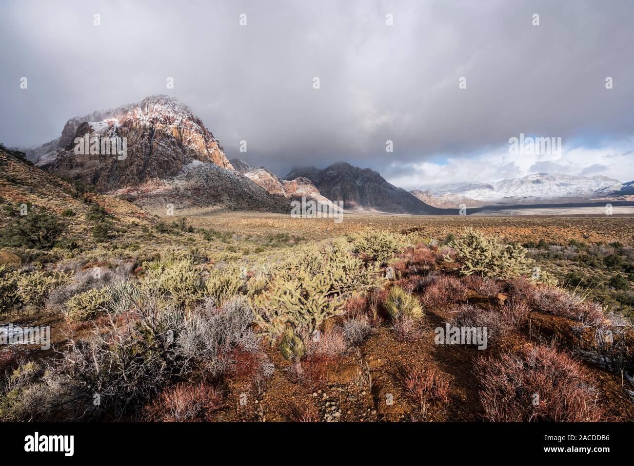
M 50 347 L 0 351 L 0 420 L 634 419 L 632 217 L 150 215 L 14 168 L 0 329 Z

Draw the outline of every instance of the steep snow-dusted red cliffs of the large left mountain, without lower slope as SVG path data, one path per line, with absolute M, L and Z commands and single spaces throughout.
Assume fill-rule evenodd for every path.
M 86 150 L 75 153 L 75 141 L 86 134 L 93 139 L 125 138 L 125 156 L 112 151 L 101 153 L 99 149 L 97 153 Z M 200 118 L 178 100 L 165 95 L 71 118 L 57 146 L 39 156 L 37 150 L 30 149 L 27 156 L 51 172 L 93 184 L 102 192 L 174 176 L 194 160 L 233 168 L 224 156 L 223 147 Z

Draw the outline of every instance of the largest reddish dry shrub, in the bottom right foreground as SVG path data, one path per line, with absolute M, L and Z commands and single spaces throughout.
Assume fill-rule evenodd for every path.
M 596 422 L 598 391 L 578 363 L 549 346 L 481 357 L 475 365 L 486 419 Z

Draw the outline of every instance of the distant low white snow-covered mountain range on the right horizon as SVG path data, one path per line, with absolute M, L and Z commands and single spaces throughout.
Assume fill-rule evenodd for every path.
M 593 198 L 598 192 L 618 191 L 619 180 L 603 176 L 581 177 L 563 173 L 533 173 L 494 183 L 455 183 L 431 189 L 435 196 L 458 194 L 479 201 L 538 202 L 555 198 Z

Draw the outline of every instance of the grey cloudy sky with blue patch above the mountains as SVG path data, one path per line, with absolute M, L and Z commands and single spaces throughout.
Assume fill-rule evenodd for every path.
M 228 157 L 279 175 L 346 160 L 406 189 L 628 181 L 633 23 L 631 0 L 3 1 L 0 142 L 50 141 L 72 116 L 160 93 Z M 562 153 L 512 155 L 520 133 L 561 137 Z

